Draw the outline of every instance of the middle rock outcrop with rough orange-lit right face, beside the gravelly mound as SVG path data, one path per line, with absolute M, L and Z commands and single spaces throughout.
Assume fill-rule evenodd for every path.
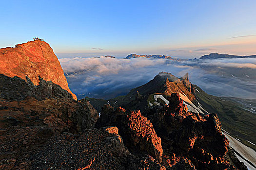
M 139 111 L 126 112 L 119 107 L 117 110 L 105 105 L 96 127 L 117 126 L 125 146 L 131 152 L 144 152 L 161 161 L 161 139 L 157 136 L 152 123 Z

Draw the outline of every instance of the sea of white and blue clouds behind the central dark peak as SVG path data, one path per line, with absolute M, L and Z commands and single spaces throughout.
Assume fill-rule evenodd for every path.
M 256 99 L 256 59 L 187 60 L 149 58 L 62 58 L 60 64 L 69 87 L 79 99 L 110 99 L 144 85 L 159 72 L 189 79 L 208 94 Z M 236 75 L 236 71 L 239 75 Z M 243 72 L 243 74 L 241 74 Z M 233 75 L 233 74 L 234 75 Z

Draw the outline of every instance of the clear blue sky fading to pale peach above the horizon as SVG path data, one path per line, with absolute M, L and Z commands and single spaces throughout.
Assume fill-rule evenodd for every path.
M 37 36 L 60 58 L 256 54 L 255 0 L 6 0 L 1 7 L 0 48 Z

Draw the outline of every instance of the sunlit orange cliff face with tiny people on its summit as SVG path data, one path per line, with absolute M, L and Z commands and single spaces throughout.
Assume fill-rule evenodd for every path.
M 15 48 L 0 49 L 0 74 L 11 78 L 20 77 L 34 85 L 39 85 L 40 79 L 51 81 L 77 99 L 68 87 L 57 56 L 44 41 L 29 41 Z

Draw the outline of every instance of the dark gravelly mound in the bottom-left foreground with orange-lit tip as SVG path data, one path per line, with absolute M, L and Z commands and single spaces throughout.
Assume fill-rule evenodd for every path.
M 79 135 L 63 133 L 51 138 L 42 136 L 42 132 L 46 132 L 47 129 L 40 129 L 40 127 L 36 130 L 24 129 L 18 132 L 21 138 L 17 138 L 18 135 L 15 138 L 21 140 L 22 144 L 16 143 L 15 146 L 18 146 L 25 155 L 19 158 L 10 158 L 11 155 L 7 154 L 0 157 L 0 169 L 166 170 L 149 155 L 131 154 L 124 146 L 121 136 L 118 135 L 117 127 L 85 129 Z M 35 134 L 35 138 L 36 136 L 39 138 L 26 143 L 33 136 L 31 131 L 37 132 L 32 134 Z M 49 133 L 46 134 L 49 135 Z M 10 150 L 10 148 L 1 147 L 0 151 L 4 149 Z

